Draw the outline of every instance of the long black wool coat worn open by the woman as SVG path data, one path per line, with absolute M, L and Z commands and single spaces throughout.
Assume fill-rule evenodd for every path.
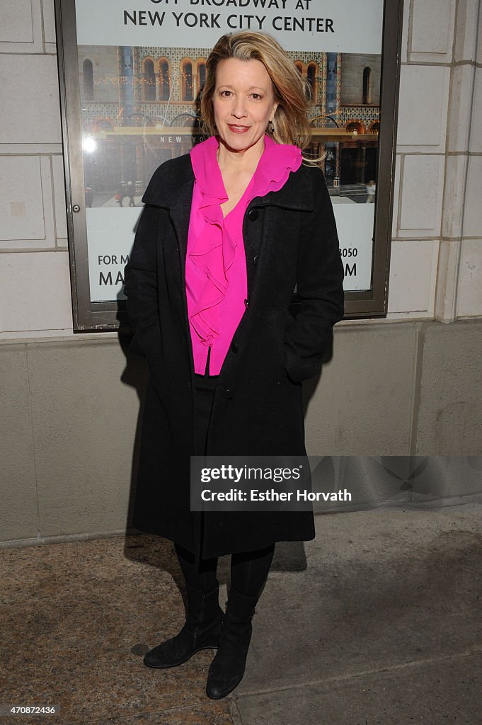
M 315 537 L 313 514 L 190 510 L 196 449 L 185 262 L 194 174 L 189 154 L 154 173 L 125 268 L 133 352 L 149 365 L 133 523 L 209 558 Z M 306 455 L 302 381 L 320 372 L 344 314 L 344 271 L 323 173 L 302 165 L 256 197 L 243 223 L 248 297 L 220 370 L 207 455 Z M 296 285 L 296 318 L 288 305 Z M 197 517 L 197 518 L 196 518 Z M 197 532 L 197 533 L 196 533 Z

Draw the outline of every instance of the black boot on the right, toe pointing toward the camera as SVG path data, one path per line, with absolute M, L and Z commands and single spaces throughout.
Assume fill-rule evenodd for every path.
M 258 598 L 230 589 L 219 646 L 207 677 L 206 693 L 213 700 L 229 695 L 243 679 Z

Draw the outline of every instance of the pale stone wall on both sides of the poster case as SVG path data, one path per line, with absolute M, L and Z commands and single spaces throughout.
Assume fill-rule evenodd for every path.
M 313 454 L 482 455 L 481 34 L 406 0 L 388 318 L 338 325 Z M 145 370 L 72 334 L 53 0 L 4 0 L 0 51 L 0 539 L 122 531 Z

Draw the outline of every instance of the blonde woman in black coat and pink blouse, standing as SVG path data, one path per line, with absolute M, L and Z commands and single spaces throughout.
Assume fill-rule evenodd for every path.
M 144 662 L 217 648 L 213 698 L 243 677 L 275 542 L 315 537 L 308 511 L 191 512 L 189 486 L 191 455 L 306 455 L 302 381 L 320 372 L 344 312 L 331 201 L 320 169 L 302 163 L 306 113 L 304 81 L 273 38 L 220 38 L 201 99 L 209 138 L 154 173 L 125 270 L 132 349 L 150 370 L 133 523 L 174 542 L 188 602 L 183 629 Z

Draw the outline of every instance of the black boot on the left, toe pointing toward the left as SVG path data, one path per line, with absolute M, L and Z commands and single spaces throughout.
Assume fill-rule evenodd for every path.
M 219 584 L 209 594 L 189 586 L 187 592 L 186 624 L 175 637 L 146 653 L 144 664 L 148 667 L 175 667 L 199 650 L 216 649 L 224 616 L 219 605 Z

